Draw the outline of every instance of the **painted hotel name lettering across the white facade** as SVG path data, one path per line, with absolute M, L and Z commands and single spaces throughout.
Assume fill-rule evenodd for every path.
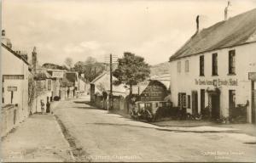
M 195 79 L 195 85 L 202 85 L 202 86 L 238 86 L 237 79 Z

